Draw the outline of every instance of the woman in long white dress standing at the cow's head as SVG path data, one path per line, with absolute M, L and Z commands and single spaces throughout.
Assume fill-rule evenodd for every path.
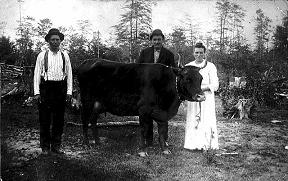
M 195 60 L 185 65 L 201 68 L 201 89 L 206 97 L 203 102 L 187 102 L 184 148 L 189 150 L 219 149 L 214 96 L 219 82 L 217 69 L 205 59 L 205 51 L 205 46 L 197 43 L 194 50 Z

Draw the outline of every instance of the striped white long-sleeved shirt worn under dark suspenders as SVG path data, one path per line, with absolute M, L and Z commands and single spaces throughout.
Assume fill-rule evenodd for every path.
M 39 53 L 36 60 L 34 70 L 34 95 L 40 94 L 40 80 L 44 77 L 45 80 L 61 81 L 67 76 L 67 94 L 72 95 L 72 67 L 69 55 L 66 51 L 62 51 L 65 57 L 65 74 L 63 74 L 63 60 L 61 51 L 57 53 L 48 50 L 48 70 L 45 72 L 44 55 L 46 51 Z

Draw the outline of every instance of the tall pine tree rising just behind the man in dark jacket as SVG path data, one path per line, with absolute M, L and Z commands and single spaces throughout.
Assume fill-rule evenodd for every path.
M 119 24 L 113 26 L 116 30 L 116 43 L 128 49 L 130 62 L 135 62 L 141 47 L 147 44 L 147 35 L 152 30 L 153 0 L 126 0 Z

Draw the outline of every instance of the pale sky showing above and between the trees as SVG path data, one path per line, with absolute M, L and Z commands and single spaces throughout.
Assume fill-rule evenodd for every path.
M 19 0 L 0 0 L 0 22 L 6 22 L 4 34 L 15 37 L 15 29 L 20 19 Z M 101 39 L 113 38 L 112 26 L 124 13 L 125 0 L 22 0 L 22 17 L 32 16 L 36 20 L 49 18 L 54 27 L 75 26 L 78 20 L 89 20 L 92 29 L 99 30 Z M 255 39 L 256 10 L 261 8 L 272 20 L 272 27 L 281 25 L 283 13 L 288 9 L 288 0 L 230 0 L 246 11 L 244 34 L 249 43 Z M 200 33 L 205 36 L 216 24 L 216 0 L 159 0 L 152 9 L 152 28 L 160 28 L 164 34 L 171 33 L 173 27 L 183 24 L 189 15 L 193 23 L 199 24 Z

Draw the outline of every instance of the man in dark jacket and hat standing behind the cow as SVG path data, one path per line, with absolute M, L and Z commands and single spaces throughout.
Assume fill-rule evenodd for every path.
M 137 63 L 160 63 L 171 67 L 176 67 L 174 54 L 163 47 L 165 37 L 160 29 L 155 29 L 150 35 L 152 46 L 141 51 Z M 163 123 L 166 127 L 165 141 L 168 146 L 168 122 Z M 150 120 L 148 132 L 146 135 L 146 143 L 151 146 L 153 144 L 153 120 Z

